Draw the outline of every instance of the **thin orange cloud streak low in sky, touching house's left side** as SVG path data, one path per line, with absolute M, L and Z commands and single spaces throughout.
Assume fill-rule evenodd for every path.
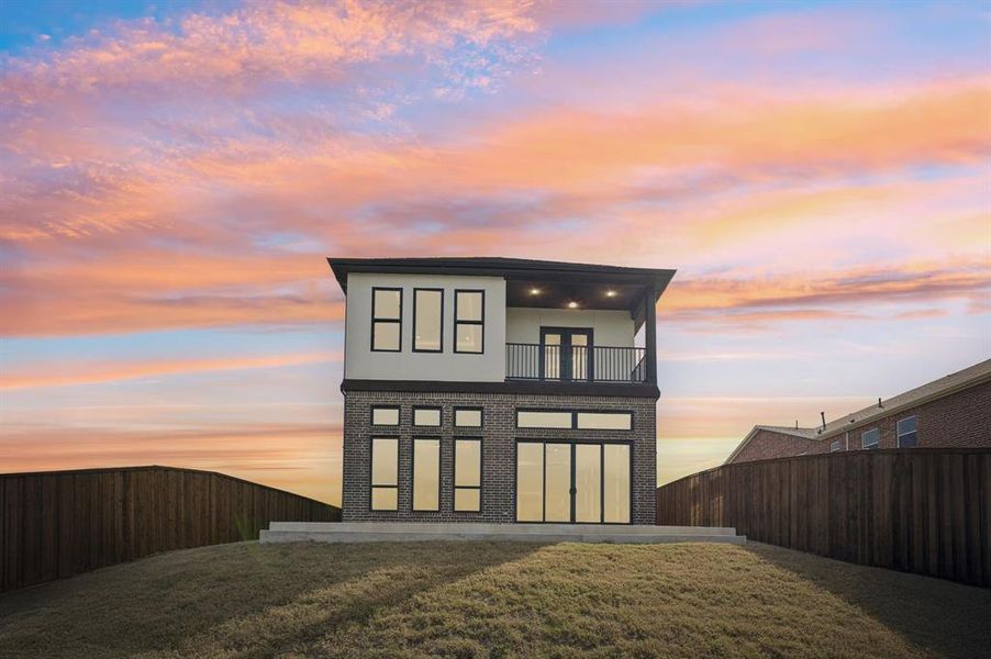
M 0 389 L 34 389 L 38 387 L 66 387 L 114 382 L 156 376 L 197 373 L 223 370 L 279 368 L 303 364 L 339 361 L 337 353 L 277 355 L 267 357 L 235 357 L 225 359 L 172 359 L 126 362 L 89 362 L 65 365 L 32 364 L 23 370 L 5 370 L 0 375 Z

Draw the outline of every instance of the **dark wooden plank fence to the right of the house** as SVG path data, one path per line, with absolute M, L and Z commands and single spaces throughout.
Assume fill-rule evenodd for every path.
M 991 449 L 858 450 L 724 465 L 657 490 L 657 523 L 991 585 Z

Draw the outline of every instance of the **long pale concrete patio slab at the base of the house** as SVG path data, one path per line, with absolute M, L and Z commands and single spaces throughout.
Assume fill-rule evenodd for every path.
M 305 523 L 272 522 L 263 530 L 267 543 L 377 543 L 417 540 L 502 540 L 534 543 L 730 543 L 745 536 L 731 527 L 587 525 L 587 524 L 475 524 L 475 523 Z

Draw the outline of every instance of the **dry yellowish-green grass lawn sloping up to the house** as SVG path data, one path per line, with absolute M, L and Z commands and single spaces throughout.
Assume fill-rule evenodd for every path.
M 978 657 L 991 591 L 750 544 L 266 545 L 0 595 L 10 657 Z

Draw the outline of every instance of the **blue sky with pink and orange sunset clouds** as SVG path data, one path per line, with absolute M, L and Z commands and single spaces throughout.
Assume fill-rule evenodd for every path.
M 991 356 L 991 5 L 0 0 L 0 472 L 338 503 L 329 255 L 676 268 L 713 467 Z

